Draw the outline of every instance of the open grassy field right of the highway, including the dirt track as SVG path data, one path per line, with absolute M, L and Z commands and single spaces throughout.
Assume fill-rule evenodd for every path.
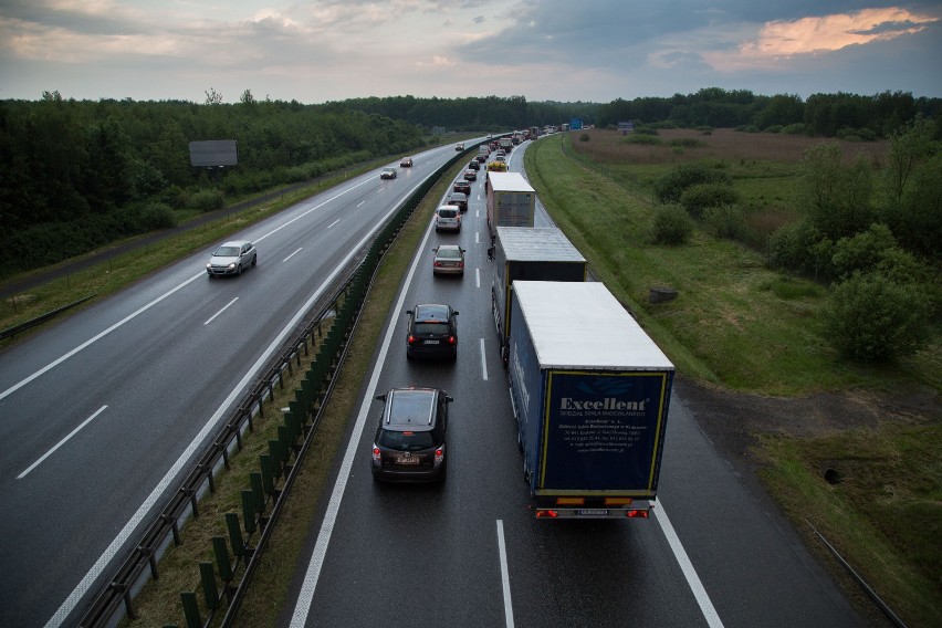
M 808 523 L 909 626 L 942 624 L 939 339 L 893 365 L 842 362 L 821 334 L 826 286 L 771 270 L 757 250 L 705 232 L 681 247 L 649 237 L 650 184 L 679 159 L 722 161 L 737 189 L 765 190 L 753 195 L 756 206 L 774 190 L 768 206 L 787 216 L 800 184 L 794 159 L 813 140 L 724 130 L 700 138 L 719 136 L 712 147 L 674 150 L 626 146 L 616 132 L 593 132 L 588 142 L 578 135 L 538 140 L 526 155 L 531 182 L 593 272 L 678 366 L 700 425 L 744 473 L 758 473 L 865 615 L 873 617 L 872 606 Z M 850 144 L 845 153 L 858 147 L 877 148 Z M 596 155 L 604 161 L 592 161 Z M 776 155 L 793 161 L 770 160 Z M 872 156 L 876 163 L 879 153 Z M 649 303 L 657 285 L 677 289 L 678 299 Z M 824 479 L 828 469 L 836 483 Z

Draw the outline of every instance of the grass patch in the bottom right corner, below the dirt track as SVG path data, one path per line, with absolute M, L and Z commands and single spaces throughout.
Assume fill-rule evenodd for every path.
M 761 477 L 818 554 L 805 520 L 908 626 L 942 625 L 942 432 L 882 422 L 818 438 L 767 435 Z M 826 470 L 837 484 L 823 480 Z M 856 587 L 856 585 L 850 585 Z

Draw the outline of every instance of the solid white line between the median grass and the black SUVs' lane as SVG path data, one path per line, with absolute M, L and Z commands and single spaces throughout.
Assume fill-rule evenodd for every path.
M 412 268 L 409 269 L 409 274 L 406 281 L 402 282 L 402 289 L 399 292 L 399 299 L 396 302 L 395 312 L 401 312 L 402 305 L 406 302 L 406 289 L 412 283 L 412 276 L 416 274 L 416 269 L 422 258 L 422 251 L 428 247 L 429 237 L 432 231 L 432 222 L 426 230 L 426 237 L 421 245 L 416 252 L 416 258 L 412 260 Z M 398 320 L 394 316 L 394 321 Z M 376 365 L 373 368 L 373 374 L 369 376 L 369 385 L 366 389 L 366 395 L 363 398 L 363 405 L 359 408 L 359 414 L 356 417 L 350 440 L 347 443 L 347 449 L 344 452 L 344 461 L 341 464 L 341 470 L 337 472 L 337 480 L 334 482 L 334 490 L 331 492 L 331 501 L 327 503 L 327 511 L 324 513 L 324 522 L 321 524 L 321 532 L 317 534 L 317 543 L 314 545 L 314 552 L 311 554 L 311 561 L 307 563 L 307 571 L 304 573 L 304 582 L 301 584 L 301 592 L 297 594 L 297 601 L 294 606 L 294 613 L 291 616 L 291 628 L 301 628 L 307 624 L 307 614 L 311 611 L 311 603 L 314 600 L 314 589 L 317 588 L 317 579 L 321 577 L 321 568 L 324 566 L 324 558 L 327 555 L 327 546 L 331 543 L 331 534 L 334 532 L 334 524 L 337 522 L 337 513 L 341 511 L 341 502 L 344 499 L 344 491 L 347 488 L 347 480 L 350 477 L 353 461 L 356 458 L 359 439 L 363 436 L 363 429 L 366 426 L 366 417 L 369 414 L 369 407 L 373 404 L 373 398 L 376 395 L 376 386 L 379 383 L 379 374 L 383 370 L 383 365 L 386 362 L 386 354 L 389 353 L 389 345 L 393 343 L 393 335 L 398 328 L 397 325 L 390 324 L 386 332 L 386 337 L 383 339 L 383 347 L 379 349 L 379 356 Z

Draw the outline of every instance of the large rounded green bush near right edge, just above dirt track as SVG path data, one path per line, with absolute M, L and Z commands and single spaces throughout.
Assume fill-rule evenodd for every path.
M 932 307 L 919 284 L 880 273 L 856 273 L 831 290 L 825 334 L 845 357 L 886 362 L 909 355 L 929 338 Z

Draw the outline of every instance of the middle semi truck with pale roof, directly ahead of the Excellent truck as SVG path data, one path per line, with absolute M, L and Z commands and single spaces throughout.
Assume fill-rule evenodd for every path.
M 491 308 L 501 341 L 501 356 L 506 358 L 513 282 L 586 281 L 588 266 L 579 250 L 557 227 L 498 227 L 492 258 Z

